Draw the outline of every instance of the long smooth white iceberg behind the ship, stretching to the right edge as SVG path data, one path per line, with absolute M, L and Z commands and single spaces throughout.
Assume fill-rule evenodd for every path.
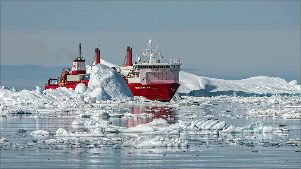
M 293 80 L 287 83 L 279 77 L 250 77 L 242 80 L 223 80 L 198 76 L 180 71 L 180 87 L 178 93 L 189 93 L 193 90 L 206 89 L 207 91 L 243 91 L 249 93 L 300 93 L 300 85 Z

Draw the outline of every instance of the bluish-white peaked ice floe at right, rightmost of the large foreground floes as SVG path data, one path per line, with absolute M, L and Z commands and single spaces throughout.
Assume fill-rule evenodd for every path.
M 263 122 L 251 123 L 244 127 L 234 127 L 230 125 L 229 127 L 223 129 L 221 132 L 224 133 L 282 133 L 284 128 L 274 128 L 272 126 L 266 126 Z

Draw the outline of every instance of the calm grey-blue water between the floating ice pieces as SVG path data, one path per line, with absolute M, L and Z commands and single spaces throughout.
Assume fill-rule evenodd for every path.
M 279 106 L 279 105 L 278 105 Z M 141 119 L 125 118 L 88 118 L 108 120 L 112 125 L 133 127 L 141 123 L 151 122 L 161 115 L 174 117 L 168 120 L 170 124 L 177 120 L 193 121 L 204 115 L 215 115 L 216 119 L 226 121 L 227 125 L 236 127 L 247 126 L 250 123 L 262 121 L 268 126 L 279 127 L 287 125 L 288 137 L 278 137 L 277 134 L 223 134 L 214 135 L 189 135 L 190 131 L 181 131 L 179 136 L 168 135 L 165 137 L 180 137 L 190 140 L 189 147 L 164 147 L 164 148 L 137 148 L 122 147 L 124 141 L 101 141 L 101 137 L 53 137 L 58 128 L 72 131 L 89 131 L 88 128 L 72 126 L 73 120 L 82 119 L 76 115 L 91 109 L 103 109 L 104 106 L 93 108 L 70 108 L 69 112 L 55 112 L 57 109 L 43 109 L 43 105 L 19 105 L 31 112 L 39 110 L 42 118 L 33 118 L 32 114 L 5 115 L 1 117 L 1 138 L 5 137 L 10 143 L 1 144 L 1 168 L 300 168 L 300 146 L 281 144 L 289 139 L 300 138 L 300 119 L 289 120 L 271 117 L 246 118 L 249 109 L 267 109 L 275 107 L 267 104 L 246 104 L 218 102 L 218 104 L 201 104 L 200 106 L 112 106 L 116 113 L 153 113 L 155 117 L 141 117 Z M 111 108 L 110 108 L 111 107 Z M 156 111 L 146 111 L 149 109 Z M 160 111 L 158 111 L 160 110 Z M 242 118 L 225 117 L 220 114 L 243 115 Z M 229 112 L 230 111 L 230 112 Z M 204 113 L 206 112 L 206 113 Z M 199 115 L 190 119 L 193 115 Z M 166 119 L 166 117 L 163 117 Z M 18 128 L 27 132 L 18 132 Z M 34 130 L 44 129 L 51 132 L 49 136 L 31 136 Z M 256 139 L 245 139 L 245 136 L 256 135 Z M 126 136 L 138 137 L 134 133 L 106 134 L 107 138 Z M 155 136 L 142 136 L 155 137 Z M 243 143 L 253 142 L 253 145 L 229 145 L 226 138 L 241 138 Z M 62 143 L 38 143 L 39 140 L 57 138 Z M 20 142 L 20 144 L 18 143 Z M 258 145 L 265 142 L 266 145 Z M 25 148 L 20 149 L 20 146 Z

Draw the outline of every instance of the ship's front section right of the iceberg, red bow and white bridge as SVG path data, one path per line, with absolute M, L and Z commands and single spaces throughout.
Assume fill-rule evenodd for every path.
M 135 64 L 132 61 L 132 49 L 127 47 L 127 64 L 123 64 L 116 70 L 124 77 L 134 96 L 169 102 L 180 86 L 181 62 L 178 60 L 166 62 L 166 59 L 163 62 L 164 58 L 158 51 L 158 47 L 152 50 L 152 40 L 149 40 L 148 46 L 149 49 L 143 52 L 144 61 L 141 61 L 139 56 Z M 155 59 L 156 56 L 158 60 Z M 146 57 L 149 58 L 147 63 Z

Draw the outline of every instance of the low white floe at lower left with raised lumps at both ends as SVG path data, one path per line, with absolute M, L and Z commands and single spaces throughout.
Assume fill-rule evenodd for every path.
M 102 128 L 95 128 L 94 132 L 85 132 L 85 131 L 67 131 L 64 128 L 59 128 L 56 131 L 55 136 L 58 137 L 103 137 L 105 132 Z

